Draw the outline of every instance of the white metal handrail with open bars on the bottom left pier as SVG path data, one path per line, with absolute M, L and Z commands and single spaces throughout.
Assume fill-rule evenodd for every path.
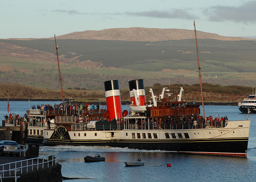
M 23 146 L 23 145 L 21 145 L 21 146 Z M 45 163 L 47 163 L 47 167 L 49 167 L 50 162 L 52 163 L 52 166 L 53 166 L 53 163 L 56 165 L 57 159 L 58 159 L 57 158 L 58 153 L 59 153 L 58 151 L 53 151 L 53 150 L 48 150 L 48 149 L 39 149 L 39 157 L 1 164 L 0 165 L 0 169 L 2 169 L 2 170 L 0 170 L 1 178 L 13 177 L 13 176 L 11 176 L 11 171 L 15 171 L 15 176 L 14 177 L 15 177 L 15 181 L 16 181 L 16 178 L 18 178 L 16 176 L 16 171 L 20 170 L 20 172 L 22 174 L 23 168 L 25 168 L 27 170 L 27 173 L 28 173 L 28 169 L 29 169 L 30 166 L 31 166 L 32 171 L 33 171 L 34 166 L 36 166 L 36 170 L 38 170 L 39 165 L 42 165 L 42 169 L 44 169 L 44 164 Z M 39 161 L 39 159 L 42 159 L 42 162 Z M 36 162 L 34 163 L 34 161 L 36 161 Z M 30 165 L 29 165 L 29 162 L 31 162 Z M 19 164 L 19 163 L 20 163 L 20 167 L 17 167 L 17 164 Z M 26 163 L 26 165 L 22 166 L 23 163 Z M 11 168 L 12 164 L 15 165 L 14 168 Z M 4 166 L 9 166 L 9 169 L 5 170 Z M 9 176 L 4 177 L 5 172 L 9 172 Z

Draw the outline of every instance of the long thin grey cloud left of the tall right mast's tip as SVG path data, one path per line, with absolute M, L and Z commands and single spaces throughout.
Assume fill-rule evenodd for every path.
M 183 9 L 174 9 L 172 12 L 168 11 L 141 11 L 141 12 L 125 12 L 122 13 L 128 16 L 144 16 L 144 17 L 155 17 L 155 18 L 181 18 L 181 19 L 193 19 L 197 18 L 195 15 L 191 15 Z

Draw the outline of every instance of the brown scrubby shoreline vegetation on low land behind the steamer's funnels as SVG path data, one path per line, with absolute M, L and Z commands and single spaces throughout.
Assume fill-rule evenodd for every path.
M 145 87 L 146 100 L 150 100 L 149 88 L 153 88 L 154 94 L 161 94 L 162 88 L 167 87 L 171 93 L 177 94 L 180 91 L 180 87 L 183 87 L 183 99 L 188 104 L 196 102 L 201 103 L 200 86 L 199 84 L 171 84 L 161 85 L 155 83 L 152 87 Z M 129 104 L 129 89 L 121 89 L 122 104 Z M 203 83 L 203 97 L 205 105 L 230 105 L 236 106 L 242 99 L 252 94 L 252 87 L 243 86 L 221 86 L 219 84 Z M 0 100 L 4 101 L 9 99 L 10 101 L 61 101 L 60 90 L 50 90 L 45 88 L 38 88 L 32 86 L 25 86 L 19 84 L 0 83 Z M 106 104 L 105 92 L 98 90 L 80 90 L 78 87 L 64 90 L 64 100 L 69 102 L 69 99 L 73 100 L 73 103 L 101 103 Z

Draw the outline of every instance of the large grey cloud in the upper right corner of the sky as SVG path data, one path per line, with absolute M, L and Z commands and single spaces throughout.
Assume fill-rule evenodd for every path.
M 213 6 L 204 10 L 210 21 L 256 22 L 256 1 L 235 6 Z

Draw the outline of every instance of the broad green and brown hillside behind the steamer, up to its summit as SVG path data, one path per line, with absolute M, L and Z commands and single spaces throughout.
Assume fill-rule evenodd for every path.
M 197 33 L 203 82 L 226 86 L 256 85 L 255 40 Z M 72 36 L 65 37 L 67 35 Z M 103 90 L 103 82 L 110 79 L 118 79 L 120 88 L 128 88 L 128 80 L 132 79 L 144 79 L 146 86 L 166 84 L 169 80 L 170 83 L 198 83 L 192 30 L 133 27 L 67 35 L 57 37 L 65 89 Z M 177 37 L 180 40 L 167 40 Z M 0 78 L 0 83 L 58 89 L 54 40 L 0 39 Z

